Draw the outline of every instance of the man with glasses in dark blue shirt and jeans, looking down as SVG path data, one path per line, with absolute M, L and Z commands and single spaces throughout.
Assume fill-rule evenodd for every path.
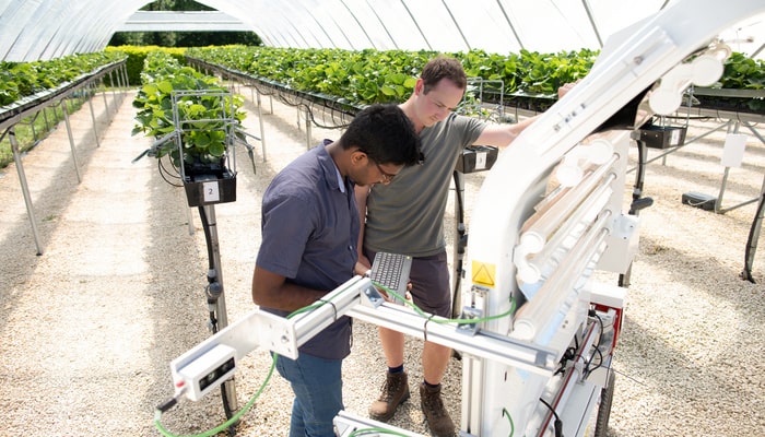
M 388 184 L 420 160 L 412 122 L 396 105 L 360 111 L 340 140 L 311 149 L 271 181 L 262 199 L 262 244 L 252 300 L 287 316 L 353 276 L 360 217 L 355 185 Z M 351 319 L 341 317 L 276 369 L 295 393 L 291 437 L 334 436 L 342 410 L 342 359 L 351 352 Z

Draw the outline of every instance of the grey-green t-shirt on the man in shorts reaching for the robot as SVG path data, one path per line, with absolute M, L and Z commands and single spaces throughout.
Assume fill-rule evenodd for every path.
M 485 126 L 475 118 L 451 114 L 423 129 L 424 164 L 404 167 L 387 186 L 372 187 L 364 247 L 412 257 L 442 251 L 446 247 L 444 212 L 457 158 Z

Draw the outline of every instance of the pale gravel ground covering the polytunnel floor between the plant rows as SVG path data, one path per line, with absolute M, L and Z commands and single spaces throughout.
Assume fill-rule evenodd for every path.
M 162 180 L 155 160 L 131 163 L 150 143 L 130 137 L 131 102 L 128 94 L 108 121 L 103 99 L 93 101 L 99 146 L 87 106 L 72 116 L 81 182 L 63 126 L 24 157 L 42 256 L 36 256 L 15 167 L 0 173 L 2 436 L 157 436 L 153 410 L 172 394 L 169 362 L 209 335 L 199 217 L 186 206 L 183 191 Z M 232 322 L 252 309 L 259 197 L 306 147 L 297 111 L 275 101 L 273 109 L 263 116 L 268 160 L 256 146 L 254 174 L 239 154 L 237 201 L 216 206 Z M 259 132 L 255 116 L 246 126 Z M 337 135 L 313 129 L 315 143 Z M 688 191 L 717 194 L 723 135 L 716 132 L 648 168 L 645 192 L 655 205 L 642 213 L 640 251 L 614 364 L 612 436 L 765 434 L 765 255 L 755 262 L 760 284 L 739 277 L 754 204 L 714 214 L 680 202 Z M 745 162 L 731 170 L 726 205 L 756 196 L 762 187 L 765 146 L 754 138 Z M 468 206 L 482 178 L 466 178 Z M 449 225 L 452 209 L 447 209 Z M 763 238 L 760 246 L 765 253 Z M 365 416 L 382 380 L 384 359 L 375 328 L 354 327 L 353 353 L 344 364 L 345 404 Z M 410 378 L 419 381 L 421 345 L 408 341 Z M 269 367 L 264 351 L 243 361 L 236 377 L 240 405 L 264 382 Z M 460 378 L 460 362 L 454 359 L 446 390 L 457 422 Z M 290 403 L 289 388 L 274 375 L 238 435 L 286 435 Z M 223 418 L 215 392 L 176 406 L 163 424 L 195 434 Z M 426 433 L 415 392 L 392 423 Z

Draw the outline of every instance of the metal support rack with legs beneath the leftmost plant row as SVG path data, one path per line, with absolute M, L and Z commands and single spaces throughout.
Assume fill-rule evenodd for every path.
M 126 62 L 127 58 L 114 62 L 107 66 L 104 66 L 99 68 L 98 71 L 90 74 L 83 74 L 82 79 L 79 79 L 74 82 L 67 83 L 64 85 L 61 85 L 60 87 L 57 87 L 49 92 L 47 95 L 43 95 L 39 97 L 39 102 L 36 102 L 35 105 L 25 107 L 23 109 L 20 109 L 16 114 L 14 114 L 11 117 L 8 117 L 7 119 L 0 121 L 0 129 L 4 130 L 4 132 L 8 132 L 9 139 L 11 142 L 11 152 L 13 153 L 13 161 L 16 166 L 16 173 L 19 174 L 19 184 L 21 185 L 21 191 L 22 196 L 24 197 L 24 203 L 26 204 L 26 215 L 30 220 L 30 224 L 32 226 L 32 234 L 33 238 L 35 240 L 35 247 L 37 249 L 37 256 L 43 255 L 43 247 L 39 240 L 39 233 L 37 232 L 37 220 L 35 218 L 35 213 L 34 213 L 34 204 L 32 202 L 32 196 L 30 194 L 30 186 L 26 180 L 26 174 L 24 173 L 24 166 L 21 161 L 21 152 L 19 151 L 19 142 L 16 141 L 16 135 L 15 135 L 15 126 L 21 122 L 24 118 L 35 115 L 39 113 L 40 110 L 45 109 L 48 106 L 55 106 L 55 105 L 61 105 L 61 109 L 63 111 L 63 119 L 64 123 L 67 126 L 67 133 L 69 135 L 69 144 L 72 151 L 72 160 L 74 162 L 74 172 L 76 174 L 78 178 L 78 184 L 81 182 L 81 177 L 80 177 L 80 165 L 78 162 L 78 156 L 76 156 L 76 147 L 74 144 L 74 139 L 72 137 L 72 130 L 71 126 L 69 122 L 69 114 L 67 113 L 67 105 L 66 105 L 66 99 L 70 98 L 71 95 L 82 88 L 87 88 L 91 87 L 96 83 L 96 81 L 101 81 L 102 85 L 104 82 L 104 76 L 106 74 L 109 74 L 109 78 L 111 78 L 113 73 L 117 73 L 117 83 L 118 87 L 120 90 L 120 99 L 125 97 L 125 90 L 127 90 L 126 84 L 127 82 L 127 67 Z M 113 81 L 114 82 L 114 81 Z M 107 117 L 111 116 L 109 110 L 108 103 L 106 101 L 106 86 L 103 86 L 103 95 L 104 95 L 104 111 Z M 116 102 L 117 95 L 116 91 L 113 88 L 113 102 Z M 98 139 L 98 131 L 96 129 L 96 118 L 95 118 L 95 113 L 93 111 L 93 104 L 92 104 L 92 96 L 87 97 L 89 106 L 91 108 L 91 119 L 93 121 L 93 133 L 96 137 L 96 145 L 99 144 L 99 139 Z M 116 108 L 116 106 L 115 106 Z M 116 110 L 115 110 L 116 114 Z M 4 133 L 3 135 L 4 137 Z M 0 139 L 2 139 L 0 137 Z

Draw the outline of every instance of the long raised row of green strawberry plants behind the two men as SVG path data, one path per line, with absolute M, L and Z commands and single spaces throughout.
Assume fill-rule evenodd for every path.
M 187 56 L 246 72 L 287 88 L 328 95 L 355 106 L 403 102 L 414 87 L 425 62 L 435 51 L 289 49 L 228 46 L 192 48 Z M 520 50 L 489 54 L 484 50 L 446 54 L 458 58 L 469 78 L 503 81 L 504 102 L 544 110 L 557 99 L 557 88 L 589 72 L 598 50 L 557 54 Z M 722 87 L 762 90 L 765 69 L 741 54 L 726 62 Z M 496 94 L 496 93 L 495 93 Z M 499 96 L 484 95 L 498 103 Z M 762 98 L 746 101 L 749 110 L 763 111 Z

